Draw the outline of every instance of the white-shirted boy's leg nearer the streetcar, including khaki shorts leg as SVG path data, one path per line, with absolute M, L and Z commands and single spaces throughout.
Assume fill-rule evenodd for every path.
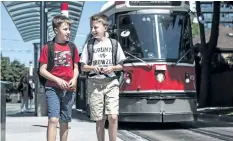
M 109 141 L 116 141 L 119 113 L 119 82 L 117 79 L 108 84 L 105 95 L 105 111 L 109 121 Z

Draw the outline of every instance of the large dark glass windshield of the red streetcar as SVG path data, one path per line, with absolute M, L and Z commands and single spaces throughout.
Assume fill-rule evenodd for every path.
M 142 59 L 177 60 L 190 48 L 188 18 L 184 12 L 124 14 L 119 29 L 130 35 L 119 36 L 119 41 L 124 51 Z

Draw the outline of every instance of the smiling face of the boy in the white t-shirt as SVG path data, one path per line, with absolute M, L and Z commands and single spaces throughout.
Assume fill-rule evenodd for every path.
M 91 33 L 95 38 L 104 37 L 106 31 L 107 31 L 107 27 L 104 26 L 103 23 L 98 21 L 91 22 Z

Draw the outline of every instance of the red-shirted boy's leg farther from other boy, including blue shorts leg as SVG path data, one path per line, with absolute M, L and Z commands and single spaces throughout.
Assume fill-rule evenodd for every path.
M 57 124 L 60 115 L 60 100 L 56 88 L 45 88 L 47 104 L 48 104 L 48 128 L 47 128 L 47 141 L 55 141 L 57 135 Z

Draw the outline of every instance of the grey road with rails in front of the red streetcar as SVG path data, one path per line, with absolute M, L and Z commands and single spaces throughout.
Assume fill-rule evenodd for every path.
M 225 123 L 226 124 L 226 123 Z M 168 126 L 166 124 L 165 126 Z M 173 127 L 173 126 L 176 127 Z M 202 126 L 200 126 L 202 125 Z M 148 126 L 148 125 L 145 125 Z M 158 125 L 160 126 L 160 124 Z M 205 127 L 203 127 L 205 126 Z M 210 125 L 209 125 L 210 126 Z M 121 138 L 124 141 L 178 141 L 178 140 L 212 140 L 212 141 L 233 141 L 233 136 L 230 130 L 219 129 L 212 125 L 209 127 L 206 123 L 192 123 L 192 124 L 171 124 L 171 127 L 160 127 L 155 129 L 146 129 L 146 127 L 140 127 L 138 129 L 129 129 L 125 131 L 119 131 L 121 136 L 127 136 L 127 138 Z M 233 127 L 233 126 L 231 126 Z M 205 129 L 202 129 L 205 128 Z M 130 137 L 129 137 L 130 136 Z

